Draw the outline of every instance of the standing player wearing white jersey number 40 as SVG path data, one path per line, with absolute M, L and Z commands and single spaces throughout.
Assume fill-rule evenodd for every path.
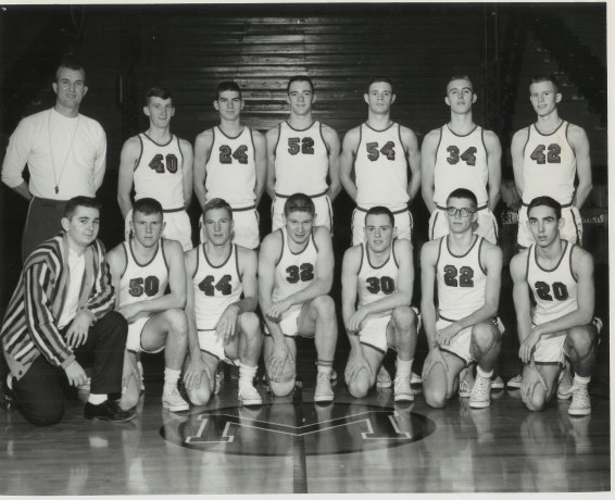
M 125 218 L 126 239 L 130 235 L 130 191 L 135 200 L 153 198 L 164 209 L 164 234 L 184 250 L 192 248 L 192 229 L 186 210 L 192 199 L 192 146 L 171 133 L 175 114 L 173 96 L 164 87 L 152 87 L 146 96 L 143 113 L 150 120 L 147 132 L 130 137 L 122 147 L 117 182 L 117 203 Z

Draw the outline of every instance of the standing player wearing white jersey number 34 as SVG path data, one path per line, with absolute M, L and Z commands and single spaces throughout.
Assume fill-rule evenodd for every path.
M 447 197 L 465 188 L 478 200 L 476 234 L 498 243 L 498 223 L 493 210 L 500 199 L 502 148 L 498 136 L 476 125 L 472 105 L 477 96 L 467 76 L 453 76 L 447 85 L 444 102 L 451 109 L 451 121 L 431 130 L 423 140 L 422 192 L 431 213 L 429 239 L 449 233 Z

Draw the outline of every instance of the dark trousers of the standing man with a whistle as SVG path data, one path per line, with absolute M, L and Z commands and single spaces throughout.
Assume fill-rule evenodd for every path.
M 62 230 L 62 217 L 66 201 L 33 198 L 22 237 L 22 261 L 25 262 L 33 250 L 43 241 L 53 238 Z

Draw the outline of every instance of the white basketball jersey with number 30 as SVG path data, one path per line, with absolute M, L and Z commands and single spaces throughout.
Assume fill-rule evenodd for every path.
M 376 267 L 372 264 L 372 262 L 369 262 L 369 250 L 367 249 L 367 246 L 361 243 L 357 309 L 385 299 L 391 293 L 396 293 L 398 291 L 398 273 L 399 264 L 396 258 L 393 245 L 391 245 L 391 251 L 389 252 L 387 261 L 379 267 Z M 391 310 L 369 314 L 369 317 L 381 317 L 389 314 L 391 314 Z

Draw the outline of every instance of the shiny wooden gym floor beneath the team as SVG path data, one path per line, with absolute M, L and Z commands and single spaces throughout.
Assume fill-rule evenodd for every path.
M 467 399 L 393 403 L 391 389 L 363 400 L 343 382 L 328 407 L 313 403 L 313 360 L 299 360 L 302 388 L 261 408 L 238 408 L 236 374 L 188 412 L 162 410 L 160 359 L 146 363 L 138 416 L 89 422 L 67 401 L 63 422 L 39 428 L 0 412 L 0 495 L 554 492 L 610 491 L 610 400 L 591 387 L 592 413 L 567 401 L 525 410 L 518 390 L 492 392 L 488 409 Z M 336 366 L 343 373 L 343 366 Z M 155 372 L 155 373 L 154 373 Z

